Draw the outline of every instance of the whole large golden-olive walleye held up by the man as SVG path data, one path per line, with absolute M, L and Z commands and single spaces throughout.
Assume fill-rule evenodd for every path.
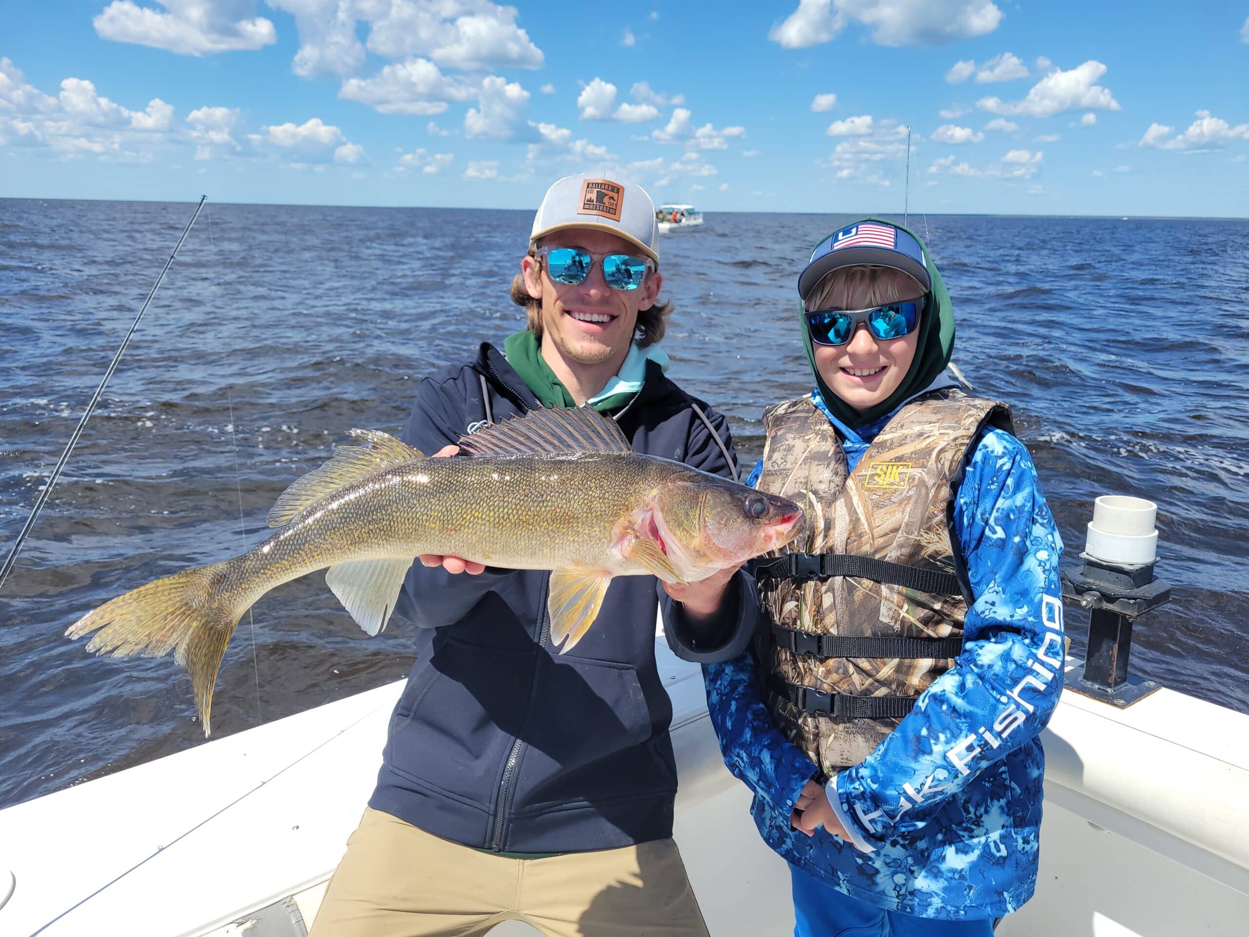
M 326 583 L 370 635 L 386 627 L 421 553 L 552 570 L 547 602 L 561 653 L 598 615 L 616 576 L 694 582 L 788 543 L 793 501 L 667 459 L 639 455 L 590 407 L 538 410 L 460 440 L 470 459 L 426 457 L 352 430 L 269 512 L 264 543 L 140 586 L 65 632 L 89 651 L 174 658 L 191 673 L 209 735 L 212 687 L 239 618 L 284 582 L 328 567 Z

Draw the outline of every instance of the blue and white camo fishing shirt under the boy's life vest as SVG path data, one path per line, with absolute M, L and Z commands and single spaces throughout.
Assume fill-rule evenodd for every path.
M 852 467 L 889 419 L 854 432 L 818 391 L 812 400 L 843 434 Z M 1044 775 L 1038 735 L 1063 685 L 1063 543 L 1028 450 L 1009 434 L 980 436 L 957 493 L 954 532 L 975 596 L 963 652 L 872 755 L 829 785 L 858 846 L 791 827 L 817 767 L 777 731 L 753 653 L 703 666 L 724 762 L 754 792 L 751 812 L 768 846 L 854 898 L 944 920 L 998 917 L 1032 897 Z

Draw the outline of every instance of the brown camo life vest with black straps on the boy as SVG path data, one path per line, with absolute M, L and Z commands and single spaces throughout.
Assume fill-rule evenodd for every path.
M 867 757 L 960 652 L 970 588 L 953 500 L 989 424 L 1009 431 L 1009 409 L 933 391 L 903 406 L 848 471 L 809 399 L 763 417 L 758 488 L 798 501 L 807 536 L 756 566 L 771 618 L 759 650 L 777 726 L 826 775 Z

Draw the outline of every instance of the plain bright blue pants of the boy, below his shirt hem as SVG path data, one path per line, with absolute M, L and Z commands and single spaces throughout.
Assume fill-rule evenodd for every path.
M 794 937 L 992 937 L 993 922 L 937 921 L 886 911 L 789 866 Z

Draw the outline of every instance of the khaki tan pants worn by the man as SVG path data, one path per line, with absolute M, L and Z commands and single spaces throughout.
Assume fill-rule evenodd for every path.
M 707 937 L 672 840 L 512 860 L 371 807 L 310 937 L 467 937 L 507 920 L 551 937 Z

